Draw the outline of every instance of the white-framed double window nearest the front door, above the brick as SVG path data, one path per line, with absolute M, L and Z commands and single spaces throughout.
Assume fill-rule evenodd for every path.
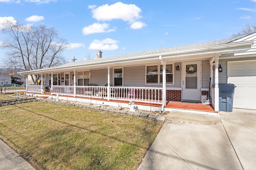
M 173 64 L 166 65 L 166 83 L 173 84 Z M 146 83 L 160 84 L 163 83 L 163 66 L 146 66 Z

